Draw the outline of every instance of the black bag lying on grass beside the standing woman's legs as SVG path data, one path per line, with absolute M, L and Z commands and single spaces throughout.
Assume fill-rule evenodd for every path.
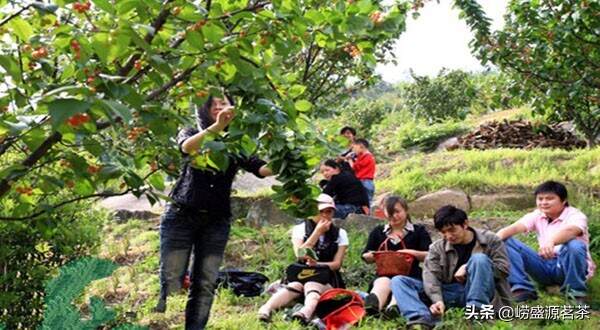
M 223 270 L 219 272 L 217 285 L 231 289 L 238 296 L 256 297 L 263 292 L 264 284 L 268 281 L 261 273 Z

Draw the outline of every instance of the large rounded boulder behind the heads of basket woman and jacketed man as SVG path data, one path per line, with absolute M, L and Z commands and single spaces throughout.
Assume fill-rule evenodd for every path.
M 454 205 L 465 212 L 470 211 L 469 197 L 462 190 L 445 189 L 419 197 L 409 203 L 408 209 L 413 218 L 433 217 L 437 209 L 444 205 Z

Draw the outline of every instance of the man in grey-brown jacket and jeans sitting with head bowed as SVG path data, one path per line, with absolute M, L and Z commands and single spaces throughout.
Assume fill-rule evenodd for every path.
M 409 328 L 432 328 L 447 307 L 510 304 L 509 261 L 496 234 L 469 226 L 465 211 L 441 207 L 434 216 L 442 238 L 429 247 L 423 282 L 409 276 L 392 279 L 392 294 Z

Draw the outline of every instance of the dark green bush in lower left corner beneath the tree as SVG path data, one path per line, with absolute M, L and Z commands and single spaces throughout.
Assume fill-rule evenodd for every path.
M 39 324 L 44 285 L 58 267 L 96 251 L 105 218 L 80 203 L 52 216 L 0 223 L 0 323 L 7 329 Z

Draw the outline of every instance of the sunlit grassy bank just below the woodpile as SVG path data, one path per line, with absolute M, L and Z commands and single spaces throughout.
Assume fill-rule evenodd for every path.
M 408 199 L 443 188 L 467 193 L 526 191 L 546 180 L 559 180 L 578 193 L 600 191 L 600 148 L 457 150 L 419 154 L 391 165 L 379 177 L 379 192 L 392 191 Z

